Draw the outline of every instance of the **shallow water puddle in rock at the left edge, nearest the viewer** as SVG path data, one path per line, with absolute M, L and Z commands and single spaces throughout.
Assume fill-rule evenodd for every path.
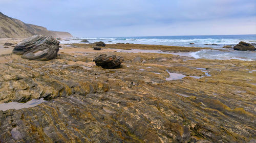
M 18 102 L 9 102 L 9 103 L 0 103 L 0 110 L 8 110 L 8 109 L 22 109 L 22 108 L 29 108 L 39 105 L 43 102 L 47 102 L 44 98 L 41 99 L 32 99 L 26 103 L 18 103 Z

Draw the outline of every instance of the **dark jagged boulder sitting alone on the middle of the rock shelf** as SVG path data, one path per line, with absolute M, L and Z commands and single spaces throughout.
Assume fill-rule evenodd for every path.
M 101 66 L 104 69 L 114 69 L 120 67 L 121 63 L 123 63 L 122 56 L 100 54 L 94 60 L 97 66 Z

